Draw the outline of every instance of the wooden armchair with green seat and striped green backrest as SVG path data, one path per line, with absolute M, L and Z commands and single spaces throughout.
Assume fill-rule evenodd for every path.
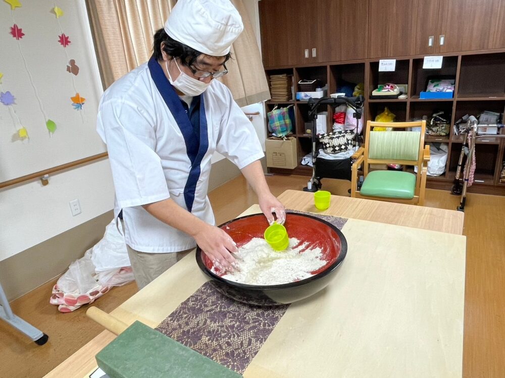
M 373 131 L 374 127 L 393 131 Z M 421 127 L 421 131 L 394 131 Z M 424 145 L 426 121 L 373 122 L 365 130 L 365 146 L 352 155 L 351 197 L 424 205 L 430 148 Z M 417 166 L 417 174 L 408 171 L 374 170 L 370 164 Z M 363 165 L 365 181 L 357 190 L 358 169 Z M 405 168 L 404 168 L 405 169 Z

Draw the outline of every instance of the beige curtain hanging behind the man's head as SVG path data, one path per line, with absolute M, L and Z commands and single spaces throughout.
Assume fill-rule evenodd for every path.
M 233 43 L 230 71 L 222 81 L 239 106 L 268 100 L 270 92 L 260 51 L 242 0 L 231 0 L 244 31 Z M 163 27 L 177 0 L 86 0 L 104 88 L 146 62 L 153 35 Z

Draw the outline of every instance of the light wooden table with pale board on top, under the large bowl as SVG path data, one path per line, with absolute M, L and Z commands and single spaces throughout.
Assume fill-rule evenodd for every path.
M 325 290 L 289 306 L 244 377 L 461 377 L 463 213 L 338 196 L 321 212 L 312 196 L 279 199 L 349 218 L 347 257 Z M 206 280 L 191 253 L 112 314 L 156 327 Z M 102 332 L 46 377 L 88 376 L 114 337 Z

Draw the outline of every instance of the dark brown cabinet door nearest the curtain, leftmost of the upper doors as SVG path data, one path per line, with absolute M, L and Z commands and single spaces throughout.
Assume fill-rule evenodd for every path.
M 317 48 L 316 8 L 312 3 L 307 0 L 262 0 L 258 3 L 265 67 L 297 66 L 316 61 L 312 57 L 312 49 Z

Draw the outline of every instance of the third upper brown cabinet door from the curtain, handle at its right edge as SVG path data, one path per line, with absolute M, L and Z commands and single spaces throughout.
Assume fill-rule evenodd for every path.
M 474 0 L 475 1 L 475 0 Z M 370 0 L 368 57 L 436 52 L 439 0 Z

